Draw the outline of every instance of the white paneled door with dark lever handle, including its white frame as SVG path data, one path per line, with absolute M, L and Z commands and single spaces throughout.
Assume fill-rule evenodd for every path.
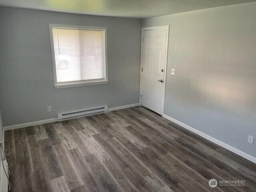
M 140 102 L 158 114 L 164 112 L 169 26 L 142 28 Z

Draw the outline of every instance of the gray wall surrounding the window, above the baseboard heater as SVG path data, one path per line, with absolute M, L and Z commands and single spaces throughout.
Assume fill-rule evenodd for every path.
M 0 8 L 0 106 L 4 126 L 94 106 L 139 102 L 140 20 Z M 108 84 L 54 88 L 49 23 L 108 30 Z M 52 106 L 47 113 L 46 106 Z

